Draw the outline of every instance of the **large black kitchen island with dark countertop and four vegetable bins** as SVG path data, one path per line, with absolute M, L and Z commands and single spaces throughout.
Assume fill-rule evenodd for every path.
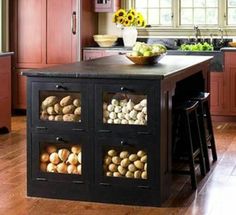
M 27 194 L 160 206 L 171 193 L 175 97 L 209 90 L 209 56 L 125 56 L 24 72 Z

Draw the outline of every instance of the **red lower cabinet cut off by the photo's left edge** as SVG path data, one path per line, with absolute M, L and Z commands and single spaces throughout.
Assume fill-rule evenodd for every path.
M 0 132 L 11 131 L 11 55 L 0 55 Z

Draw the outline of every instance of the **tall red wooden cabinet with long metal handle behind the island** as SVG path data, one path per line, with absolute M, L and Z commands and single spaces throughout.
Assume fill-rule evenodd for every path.
M 17 83 L 13 85 L 13 108 L 26 109 L 26 85 L 19 71 L 81 60 L 82 47 L 94 43 L 97 14 L 91 1 L 9 2 L 10 49 L 15 53 L 13 82 Z

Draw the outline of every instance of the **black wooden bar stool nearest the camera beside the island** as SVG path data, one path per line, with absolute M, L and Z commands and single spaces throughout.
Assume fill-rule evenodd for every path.
M 190 175 L 192 189 L 197 188 L 195 166 L 199 164 L 201 175 L 205 176 L 206 174 L 197 116 L 198 104 L 198 101 L 187 101 L 173 110 L 172 159 L 173 162 L 186 161 L 189 170 L 173 169 L 172 171 L 173 173 Z

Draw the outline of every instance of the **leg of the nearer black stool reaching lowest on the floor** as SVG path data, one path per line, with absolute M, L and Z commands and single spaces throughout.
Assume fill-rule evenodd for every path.
M 197 179 L 196 179 L 196 174 L 195 174 L 195 166 L 194 166 L 194 158 L 193 158 L 193 143 L 192 143 L 192 136 L 191 136 L 191 128 L 190 128 L 190 120 L 188 114 L 184 117 L 185 119 L 185 131 L 186 131 L 186 136 L 185 136 L 185 141 L 188 143 L 188 157 L 189 157 L 189 169 L 190 169 L 190 175 L 191 175 L 191 185 L 192 189 L 196 190 L 197 189 Z M 190 144 L 189 144 L 190 143 Z

